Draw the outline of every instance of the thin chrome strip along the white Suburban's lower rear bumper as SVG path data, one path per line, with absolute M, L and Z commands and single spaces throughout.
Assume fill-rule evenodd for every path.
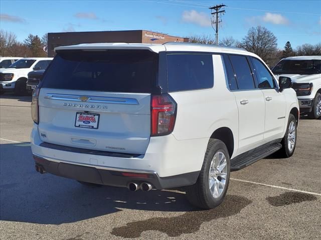
M 149 174 L 157 174 L 157 172 L 153 170 L 140 170 L 140 169 L 128 169 L 128 168 L 122 168 L 122 167 L 111 167 L 111 166 L 102 166 L 102 165 L 93 165 L 88 163 L 80 163 L 80 162 L 74 162 L 74 161 L 68 161 L 68 160 L 59 160 L 51 157 L 44 157 L 36 153 L 32 153 L 35 156 L 44 158 L 48 161 L 55 161 L 55 162 L 62 162 L 62 163 L 70 163 L 80 166 L 91 166 L 102 170 L 110 170 L 110 171 L 126 171 L 126 172 L 135 172 L 135 173 L 149 173 Z M 132 158 L 131 158 L 132 159 Z

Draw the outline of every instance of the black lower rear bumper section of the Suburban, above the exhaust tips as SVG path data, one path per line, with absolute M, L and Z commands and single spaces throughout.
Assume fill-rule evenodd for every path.
M 196 171 L 169 177 L 159 177 L 156 172 L 152 171 L 139 172 L 139 170 L 128 171 L 128 169 L 124 171 L 116 168 L 101 169 L 92 166 L 56 162 L 37 155 L 34 155 L 34 159 L 36 165 L 42 166 L 46 172 L 54 175 L 119 187 L 127 187 L 130 182 L 135 182 L 138 185 L 142 182 L 148 182 L 156 189 L 174 188 L 194 184 L 199 175 L 199 172 Z

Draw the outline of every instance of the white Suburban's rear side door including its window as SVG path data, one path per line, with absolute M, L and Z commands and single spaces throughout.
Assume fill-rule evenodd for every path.
M 235 89 L 236 78 L 237 90 L 233 90 L 239 110 L 239 150 L 242 153 L 262 144 L 264 133 L 265 105 L 263 93 L 256 88 L 253 73 L 250 69 L 246 56 L 230 55 L 234 73 L 230 73 L 229 82 Z M 228 64 L 230 64 L 228 62 Z M 234 76 L 234 77 L 233 77 Z M 231 79 L 230 79 L 231 78 Z M 229 83 L 231 87 L 231 83 Z

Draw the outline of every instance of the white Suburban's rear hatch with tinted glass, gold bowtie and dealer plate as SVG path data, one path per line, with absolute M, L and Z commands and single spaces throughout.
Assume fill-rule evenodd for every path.
M 61 50 L 39 94 L 43 141 L 123 153 L 146 151 L 150 95 L 157 91 L 157 53 Z

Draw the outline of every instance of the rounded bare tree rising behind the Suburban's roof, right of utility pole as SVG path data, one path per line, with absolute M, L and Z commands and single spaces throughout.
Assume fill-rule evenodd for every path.
M 277 38 L 264 26 L 251 27 L 242 39 L 242 47 L 259 55 L 265 62 L 272 64 L 277 52 Z

